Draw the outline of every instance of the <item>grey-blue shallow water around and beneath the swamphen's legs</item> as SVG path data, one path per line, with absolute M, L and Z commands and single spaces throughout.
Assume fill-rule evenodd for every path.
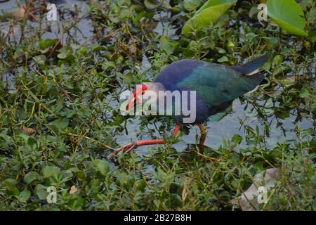
M 260 133 L 263 134 L 263 121 L 259 120 L 254 113 L 249 113 L 250 109 L 252 108 L 250 105 L 248 106 L 247 110 L 244 110 L 246 103 L 242 104 L 239 99 L 236 99 L 232 103 L 232 113 L 226 115 L 223 117 L 222 120 L 218 122 L 207 122 L 206 127 L 208 129 L 207 138 L 205 141 L 205 145 L 209 148 L 218 148 L 221 145 L 223 145 L 223 138 L 225 139 L 231 139 L 232 136 L 235 134 L 239 134 L 240 136 L 245 136 L 246 130 L 244 128 L 245 125 L 249 125 L 253 128 L 256 128 L 256 126 L 259 127 Z M 241 118 L 244 121 L 244 125 L 240 124 L 239 120 L 237 118 Z M 268 122 L 270 124 L 270 136 L 265 136 L 265 143 L 267 147 L 274 147 L 277 145 L 277 142 L 283 143 L 294 143 L 298 141 L 298 137 L 294 133 L 294 129 L 296 126 L 301 127 L 301 129 L 308 129 L 310 127 L 313 127 L 312 120 L 309 120 L 307 118 L 304 118 L 302 121 L 295 122 L 296 117 L 291 116 L 287 118 L 286 120 L 278 119 L 279 122 L 282 122 L 282 126 L 277 126 L 277 123 L 275 122 L 275 117 L 268 118 Z M 124 144 L 128 143 L 129 141 L 137 140 L 140 134 L 143 140 L 146 139 L 152 139 L 152 137 L 148 136 L 148 132 L 141 133 L 138 129 L 140 125 L 140 119 L 139 117 L 135 117 L 126 125 L 126 129 L 128 132 L 128 136 L 124 134 L 117 135 L 117 143 L 119 145 L 123 146 Z M 157 123 L 157 127 L 159 127 L 159 123 Z M 154 136 L 161 136 L 159 134 L 159 131 L 154 127 L 154 125 L 148 126 L 150 129 L 154 129 Z M 285 130 L 285 133 L 282 131 L 282 129 Z M 172 132 L 172 131 L 171 131 Z M 183 135 L 180 136 L 180 139 L 183 141 L 179 141 L 177 143 L 173 144 L 173 147 L 176 148 L 179 151 L 183 150 L 189 150 L 190 144 L 197 143 L 196 141 L 196 135 L 200 135 L 199 128 L 197 126 L 191 127 L 190 134 L 189 135 Z M 246 140 L 243 138 L 242 143 L 237 146 L 236 150 L 239 150 L 240 148 L 247 148 L 249 144 L 246 142 Z M 148 146 L 139 147 L 137 149 L 138 153 L 141 154 L 147 154 L 149 152 L 150 148 Z

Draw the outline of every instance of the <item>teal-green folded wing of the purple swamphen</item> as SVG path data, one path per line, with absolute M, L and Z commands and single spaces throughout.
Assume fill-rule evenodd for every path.
M 211 107 L 255 89 L 263 78 L 261 74 L 246 76 L 223 65 L 204 63 L 179 82 L 178 88 L 197 91 Z

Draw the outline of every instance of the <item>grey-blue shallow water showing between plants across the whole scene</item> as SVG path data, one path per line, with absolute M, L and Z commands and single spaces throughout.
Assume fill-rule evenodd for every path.
M 74 4 L 78 4 L 79 8 L 81 8 L 79 17 L 84 16 L 87 11 L 87 4 L 84 1 L 70 0 L 51 2 L 55 3 L 58 8 L 69 8 L 71 10 L 74 10 Z M 15 4 L 14 0 L 10 0 L 4 3 L 0 3 L 0 8 L 1 11 L 11 12 L 15 11 L 18 6 L 17 4 Z M 154 32 L 157 32 L 157 34 L 174 34 L 176 32 L 176 29 L 174 27 L 169 25 L 168 22 L 164 21 L 164 17 L 170 16 L 169 14 L 170 13 L 162 12 L 155 15 L 155 18 L 160 21 L 158 22 L 157 27 L 154 28 Z M 66 18 L 70 19 L 71 15 L 66 13 Z M 6 30 L 8 30 L 8 25 L 9 23 L 0 23 L 1 31 L 5 32 Z M 38 23 L 31 23 L 31 26 L 37 27 Z M 61 38 L 61 32 L 62 31 L 58 28 L 58 24 L 52 23 L 51 32 L 45 32 L 42 38 Z M 91 20 L 89 20 L 88 18 L 81 19 L 80 22 L 77 24 L 77 29 L 72 30 L 70 32 L 70 35 L 76 37 L 77 44 L 85 44 L 88 41 L 91 41 L 90 38 L 93 36 L 93 26 L 91 25 Z M 65 39 L 63 39 L 63 41 L 69 41 L 67 37 L 69 37 L 69 34 L 65 35 Z M 150 67 L 150 62 L 145 56 L 145 53 L 143 53 L 142 71 L 145 72 L 146 70 L 150 69 Z M 13 83 L 13 77 L 11 73 L 5 74 L 3 76 L 3 80 L 4 82 L 8 83 L 8 89 L 14 89 L 14 86 L 10 84 Z M 260 103 L 260 105 L 263 104 L 264 102 Z M 111 105 L 114 108 L 117 107 L 117 101 L 113 101 Z M 206 146 L 209 146 L 210 148 L 218 148 L 220 145 L 223 144 L 223 138 L 230 139 L 235 134 L 239 134 L 240 136 L 244 137 L 247 134 L 245 130 L 246 125 L 249 125 L 253 128 L 256 128 L 256 126 L 258 126 L 261 134 L 263 134 L 263 120 L 259 120 L 258 117 L 256 117 L 255 112 L 251 113 L 251 104 L 248 105 L 248 108 L 246 110 L 244 110 L 245 106 L 246 101 L 244 103 L 241 103 L 241 101 L 237 99 L 232 104 L 232 113 L 226 115 L 219 122 L 207 122 L 206 127 L 209 133 L 206 139 Z M 238 118 L 245 120 L 243 125 L 240 124 Z M 273 147 L 277 144 L 277 142 L 294 143 L 298 140 L 298 137 L 294 132 L 294 128 L 296 126 L 300 126 L 302 129 L 313 127 L 313 121 L 311 119 L 304 118 L 299 122 L 295 122 L 295 119 L 295 115 L 291 115 L 285 120 L 277 119 L 279 120 L 279 122 L 282 123 L 282 126 L 278 126 L 275 117 L 268 117 L 268 124 L 270 124 L 270 136 L 265 137 L 265 144 L 269 147 Z M 139 136 L 141 136 L 143 140 L 151 139 L 151 137 L 148 135 L 149 132 L 147 132 L 146 130 L 141 132 L 138 129 L 139 125 L 139 117 L 130 119 L 126 125 L 129 135 L 126 136 L 125 131 L 122 132 L 122 134 L 117 135 L 115 137 L 117 143 L 123 146 L 124 144 L 129 143 L 129 141 L 135 141 L 139 138 Z M 157 126 L 159 127 L 160 124 L 157 123 Z M 154 136 L 161 136 L 159 134 L 159 131 L 154 127 L 153 124 L 149 124 L 148 127 L 155 130 Z M 285 132 L 283 132 L 283 130 Z M 197 134 L 200 135 L 199 129 L 196 126 L 192 127 L 190 129 L 190 134 L 180 136 L 180 139 L 183 141 L 178 141 L 177 143 L 174 143 L 173 147 L 179 151 L 187 150 L 189 148 L 189 144 L 196 143 Z M 240 148 L 246 148 L 247 146 L 249 146 L 249 144 L 243 138 L 242 143 L 236 149 L 238 150 Z M 138 148 L 137 151 L 141 154 L 147 154 L 149 150 L 150 148 L 148 146 L 144 146 Z

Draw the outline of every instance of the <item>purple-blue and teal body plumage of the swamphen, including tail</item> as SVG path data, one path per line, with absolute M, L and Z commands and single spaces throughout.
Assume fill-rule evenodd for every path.
M 268 56 L 262 56 L 239 67 L 227 67 L 202 60 L 180 60 L 164 68 L 155 82 L 164 84 L 169 91 L 196 91 L 195 123 L 202 123 L 210 115 L 225 110 L 235 98 L 255 89 L 264 75 L 246 74 L 258 70 L 267 60 Z M 176 121 L 180 121 L 180 117 Z

